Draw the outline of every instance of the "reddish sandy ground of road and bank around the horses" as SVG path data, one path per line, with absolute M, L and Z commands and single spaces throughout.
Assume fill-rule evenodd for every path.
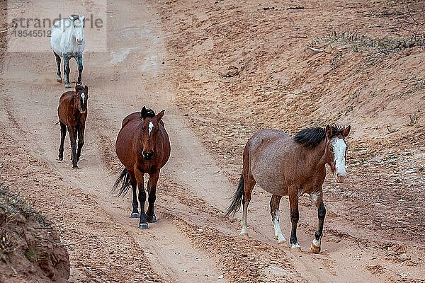
M 409 115 L 423 115 L 424 52 L 402 50 L 366 65 L 368 53 L 348 52 L 348 43 L 324 47 L 329 29 L 347 19 L 351 30 L 385 26 L 387 18 L 366 16 L 382 13 L 383 4 L 363 4 L 108 4 L 109 52 L 84 55 L 90 100 L 79 170 L 71 169 L 69 158 L 57 161 L 56 110 L 64 88 L 55 82 L 55 58 L 6 54 L 2 178 L 57 226 L 69 246 L 70 282 L 424 282 L 424 128 L 406 126 Z M 326 52 L 307 50 L 310 42 Z M 395 83 L 382 81 L 390 75 Z M 400 89 L 410 92 L 394 96 Z M 111 193 L 120 168 L 114 151 L 120 122 L 143 105 L 166 109 L 172 146 L 159 179 L 159 221 L 147 231 L 129 217 L 130 195 Z M 325 183 L 322 253 L 307 252 L 317 223 L 307 197 L 300 211 L 301 253 L 273 239 L 269 196 L 259 189 L 249 212 L 250 238 L 239 238 L 239 221 L 224 211 L 249 135 L 263 127 L 295 132 L 328 121 L 351 123 L 354 132 L 350 178 L 344 185 L 330 178 Z M 288 235 L 287 200 L 281 219 Z

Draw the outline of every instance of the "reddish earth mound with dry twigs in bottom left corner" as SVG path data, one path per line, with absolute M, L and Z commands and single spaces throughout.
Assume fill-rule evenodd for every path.
M 30 280 L 50 282 L 60 277 L 64 282 L 69 278 L 69 255 L 45 216 L 0 183 L 0 282 L 23 279 L 23 270 L 28 269 Z

